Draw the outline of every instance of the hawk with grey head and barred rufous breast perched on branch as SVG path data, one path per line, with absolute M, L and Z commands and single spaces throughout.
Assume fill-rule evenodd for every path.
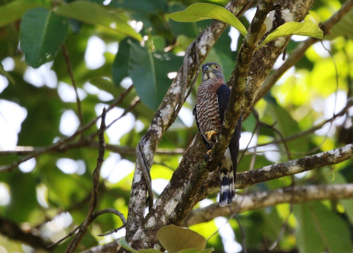
M 193 115 L 204 143 L 211 152 L 218 134 L 221 132 L 224 113 L 228 106 L 231 89 L 224 82 L 221 67 L 215 62 L 202 65 L 202 82 L 197 90 L 196 106 Z M 220 167 L 220 206 L 232 204 L 235 198 L 235 173 L 239 155 L 239 139 L 242 117 L 235 127 L 233 137 L 219 163 Z

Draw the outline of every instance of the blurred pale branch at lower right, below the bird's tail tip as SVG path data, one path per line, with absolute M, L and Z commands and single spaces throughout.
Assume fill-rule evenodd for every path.
M 218 203 L 190 212 L 184 225 L 208 222 L 219 216 L 229 216 L 234 212 L 241 213 L 282 203 L 303 203 L 317 200 L 339 200 L 353 198 L 353 184 L 344 185 L 310 185 L 281 188 L 274 191 L 253 192 L 239 196 L 229 207 L 221 207 Z

